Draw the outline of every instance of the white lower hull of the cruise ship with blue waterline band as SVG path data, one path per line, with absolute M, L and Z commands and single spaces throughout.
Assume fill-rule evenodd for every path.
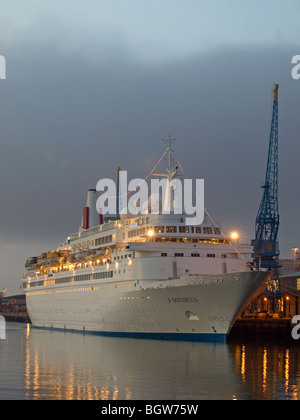
M 26 293 L 27 308 L 36 327 L 224 342 L 245 305 L 266 287 L 268 276 L 243 272 L 126 287 L 113 281 L 36 287 L 34 293 Z

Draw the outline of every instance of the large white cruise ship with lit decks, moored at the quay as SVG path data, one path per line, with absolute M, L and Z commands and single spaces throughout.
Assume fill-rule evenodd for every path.
M 167 176 L 177 177 L 169 139 Z M 232 243 L 206 214 L 103 217 L 88 191 L 77 233 L 26 261 L 22 289 L 33 326 L 107 336 L 226 342 L 266 288 L 252 246 Z M 162 212 L 161 212 L 162 213 Z

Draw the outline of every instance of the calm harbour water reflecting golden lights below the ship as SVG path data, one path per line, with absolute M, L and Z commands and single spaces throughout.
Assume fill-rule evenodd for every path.
M 7 323 L 0 399 L 298 399 L 300 344 L 119 339 Z

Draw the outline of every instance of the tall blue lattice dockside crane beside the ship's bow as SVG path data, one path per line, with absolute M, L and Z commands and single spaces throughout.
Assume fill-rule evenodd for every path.
M 273 115 L 270 133 L 269 154 L 263 197 L 255 223 L 253 245 L 253 265 L 256 269 L 272 271 L 273 281 L 269 291 L 279 291 L 279 206 L 278 206 L 278 90 L 273 87 Z

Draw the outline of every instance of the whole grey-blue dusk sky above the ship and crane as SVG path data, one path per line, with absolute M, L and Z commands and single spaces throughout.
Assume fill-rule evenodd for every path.
M 300 1 L 10 0 L 0 12 L 0 290 L 78 230 L 87 190 L 176 138 L 205 206 L 254 238 L 279 83 L 279 245 L 300 248 Z

